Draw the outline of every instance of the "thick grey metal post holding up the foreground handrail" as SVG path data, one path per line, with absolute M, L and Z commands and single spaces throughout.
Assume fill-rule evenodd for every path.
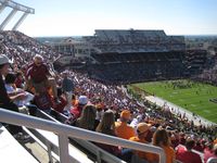
M 68 137 L 63 133 L 59 133 L 60 162 L 69 163 L 68 154 Z

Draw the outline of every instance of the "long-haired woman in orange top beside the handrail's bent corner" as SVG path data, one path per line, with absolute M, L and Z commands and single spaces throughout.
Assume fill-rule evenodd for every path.
M 157 128 L 157 130 L 154 133 L 153 136 L 153 145 L 158 146 L 164 149 L 165 155 L 166 155 L 166 163 L 174 163 L 175 162 L 175 150 L 170 147 L 170 140 L 168 133 L 166 129 Z M 158 162 L 158 155 L 154 154 L 155 156 L 152 158 L 152 160 L 155 160 Z M 153 156 L 153 155 L 152 155 Z

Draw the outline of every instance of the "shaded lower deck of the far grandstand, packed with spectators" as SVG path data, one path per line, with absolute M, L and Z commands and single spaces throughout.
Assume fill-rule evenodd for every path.
M 113 83 L 138 83 L 182 78 L 186 66 L 181 52 L 95 54 L 99 63 L 88 65 L 92 78 Z

